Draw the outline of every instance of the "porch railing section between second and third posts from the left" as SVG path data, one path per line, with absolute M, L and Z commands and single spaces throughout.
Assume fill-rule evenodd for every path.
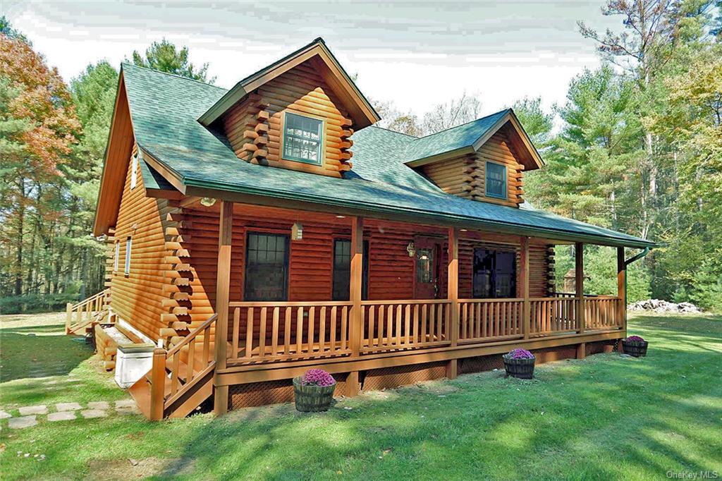
M 364 300 L 361 309 L 362 354 L 451 342 L 450 300 Z

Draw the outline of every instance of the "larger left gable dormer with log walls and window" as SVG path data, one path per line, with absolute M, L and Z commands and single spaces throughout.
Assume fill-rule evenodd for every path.
M 241 80 L 199 118 L 241 160 L 336 177 L 352 167 L 354 130 L 378 120 L 320 38 Z

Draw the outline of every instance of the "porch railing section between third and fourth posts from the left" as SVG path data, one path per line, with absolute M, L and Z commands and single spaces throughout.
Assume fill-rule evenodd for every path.
M 483 342 L 523 337 L 524 300 L 459 299 L 458 341 Z

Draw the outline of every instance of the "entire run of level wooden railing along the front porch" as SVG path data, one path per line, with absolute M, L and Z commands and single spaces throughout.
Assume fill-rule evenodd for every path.
M 354 316 L 350 301 L 229 303 L 229 364 L 273 363 L 353 354 L 352 322 L 358 319 L 358 355 L 482 345 L 513 339 L 621 329 L 620 300 L 580 298 L 363 300 Z M 528 303 L 528 306 L 525 304 Z M 454 316 L 456 306 L 456 316 Z M 524 313 L 529 308 L 529 332 Z M 458 334 L 453 339 L 453 320 Z

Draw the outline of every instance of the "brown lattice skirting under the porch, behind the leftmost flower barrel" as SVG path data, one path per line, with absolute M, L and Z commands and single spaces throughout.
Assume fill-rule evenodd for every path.
M 334 396 L 342 396 L 346 392 L 346 374 L 334 374 L 334 378 L 336 379 Z M 293 402 L 292 379 L 236 384 L 228 389 L 228 409 L 230 410 L 280 402 Z

